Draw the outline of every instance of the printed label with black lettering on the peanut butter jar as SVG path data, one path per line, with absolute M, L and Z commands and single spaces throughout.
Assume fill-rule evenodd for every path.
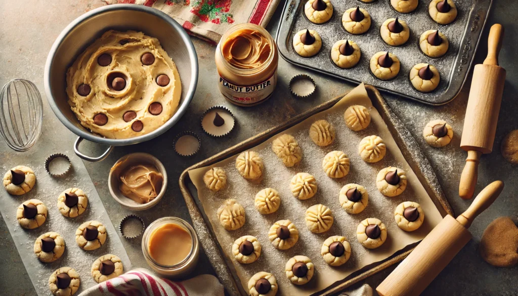
M 274 92 L 277 83 L 277 71 L 270 78 L 252 86 L 238 86 L 220 76 L 219 88 L 221 93 L 236 103 L 254 104 L 263 101 Z

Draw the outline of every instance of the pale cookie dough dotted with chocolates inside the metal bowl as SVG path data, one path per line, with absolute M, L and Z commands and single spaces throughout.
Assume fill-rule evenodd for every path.
M 107 31 L 68 68 L 68 104 L 81 125 L 111 139 L 150 133 L 175 114 L 181 82 L 158 39 Z

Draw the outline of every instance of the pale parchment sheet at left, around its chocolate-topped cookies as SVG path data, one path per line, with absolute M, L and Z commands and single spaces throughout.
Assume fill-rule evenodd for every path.
M 47 141 L 51 141 L 51 139 L 45 139 L 44 137 L 39 139 L 39 142 Z M 49 146 L 53 145 L 53 143 L 48 144 Z M 25 269 L 31 278 L 36 292 L 40 296 L 52 295 L 49 290 L 49 277 L 60 267 L 72 267 L 79 274 L 81 284 L 75 295 L 97 285 L 92 277 L 91 268 L 94 261 L 100 256 L 106 254 L 117 255 L 121 258 L 124 272 L 131 270 L 130 258 L 128 258 L 126 250 L 124 250 L 120 241 L 119 234 L 106 213 L 106 209 L 95 190 L 87 169 L 79 157 L 71 154 L 73 152 L 68 153 L 68 151 L 65 151 L 65 153 L 70 157 L 72 168 L 66 176 L 61 178 L 51 177 L 45 171 L 44 162 L 48 155 L 46 156 L 44 151 L 36 151 L 34 148 L 24 153 L 11 153 L 9 159 L 3 159 L 1 166 L 2 177 L 7 170 L 16 165 L 31 167 L 36 175 L 36 185 L 31 191 L 23 195 L 10 195 L 4 188 L 0 189 L 0 210 L 20 253 Z M 57 196 L 65 189 L 71 187 L 82 189 L 88 196 L 87 209 L 76 218 L 67 218 L 61 215 L 59 209 L 57 209 Z M 38 199 L 47 206 L 47 221 L 38 228 L 24 229 L 16 219 L 16 209 L 22 202 L 30 199 Z M 85 251 L 76 243 L 76 230 L 81 223 L 90 220 L 97 220 L 103 223 L 108 236 L 105 244 L 97 250 Z M 38 236 L 49 231 L 57 232 L 64 238 L 65 252 L 60 259 L 51 263 L 44 263 L 40 262 L 34 253 L 34 242 Z

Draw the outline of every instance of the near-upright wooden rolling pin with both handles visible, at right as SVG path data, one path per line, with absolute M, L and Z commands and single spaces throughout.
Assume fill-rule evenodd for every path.
M 493 150 L 503 84 L 506 81 L 506 70 L 498 66 L 502 38 L 503 27 L 494 24 L 489 32 L 487 57 L 483 64 L 473 69 L 461 139 L 461 148 L 468 151 L 458 187 L 458 195 L 463 199 L 473 197 L 480 156 Z

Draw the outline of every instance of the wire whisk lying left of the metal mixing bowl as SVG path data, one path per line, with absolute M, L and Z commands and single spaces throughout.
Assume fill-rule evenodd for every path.
M 16 151 L 27 151 L 41 134 L 43 104 L 31 81 L 13 79 L 0 93 L 0 133 Z

